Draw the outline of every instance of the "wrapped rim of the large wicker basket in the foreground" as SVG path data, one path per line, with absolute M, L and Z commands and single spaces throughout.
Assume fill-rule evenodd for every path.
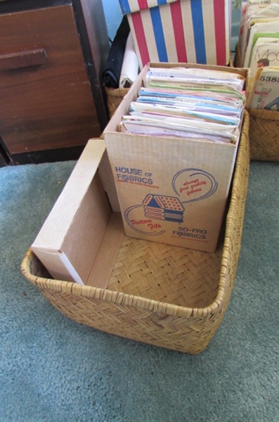
M 160 314 L 167 314 L 173 316 L 181 316 L 188 318 L 205 318 L 209 315 L 216 314 L 219 312 L 219 308 L 223 302 L 225 296 L 226 285 L 229 282 L 230 274 L 230 262 L 233 255 L 232 250 L 232 236 L 231 233 L 235 232 L 234 224 L 234 207 L 235 202 L 237 203 L 240 197 L 238 188 L 235 186 L 236 180 L 238 179 L 238 173 L 240 173 L 240 155 L 242 155 L 242 149 L 245 148 L 245 143 L 248 143 L 248 131 L 245 129 L 245 124 L 249 123 L 249 113 L 247 110 L 244 111 L 244 119 L 242 124 L 242 134 L 240 136 L 240 144 L 238 146 L 238 157 L 235 163 L 235 174 L 232 184 L 231 192 L 231 201 L 228 209 L 228 214 L 226 217 L 226 231 L 223 241 L 223 252 L 221 257 L 221 267 L 220 267 L 220 276 L 219 276 L 219 286 L 216 294 L 216 298 L 210 305 L 207 307 L 183 307 L 181 305 L 174 305 L 167 302 L 161 302 L 157 300 L 151 300 L 148 298 L 143 298 L 136 295 L 131 295 L 128 293 L 117 292 L 113 290 L 108 290 L 105 288 L 98 288 L 92 286 L 82 286 L 78 283 L 72 281 L 63 281 L 55 279 L 44 279 L 41 276 L 34 276 L 30 272 L 30 263 L 32 262 L 34 252 L 29 248 L 25 253 L 20 269 L 22 274 L 27 280 L 36 285 L 41 289 L 56 290 L 59 293 L 67 293 L 70 295 L 75 295 L 82 297 L 84 299 L 96 298 L 98 300 L 106 300 L 109 302 L 115 303 L 115 305 L 120 306 L 131 306 L 138 309 L 150 310 L 150 312 L 157 312 Z M 249 147 L 249 144 L 248 144 Z M 249 171 L 249 167 L 248 167 Z M 248 178 L 248 175 L 247 175 Z M 241 237 L 241 233 L 240 233 Z M 238 259 L 238 258 L 237 258 Z

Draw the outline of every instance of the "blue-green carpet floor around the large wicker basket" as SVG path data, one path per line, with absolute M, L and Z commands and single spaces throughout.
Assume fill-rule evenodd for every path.
M 0 421 L 279 421 L 279 163 L 251 163 L 235 287 L 197 356 L 79 325 L 20 273 L 73 167 L 0 169 Z

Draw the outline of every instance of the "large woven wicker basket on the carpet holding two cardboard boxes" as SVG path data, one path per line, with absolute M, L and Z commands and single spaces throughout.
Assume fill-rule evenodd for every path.
M 22 260 L 22 273 L 53 307 L 79 323 L 180 352 L 202 352 L 221 323 L 238 266 L 249 173 L 248 132 L 245 112 L 226 224 L 216 252 L 124 236 L 108 288 L 53 280 L 31 250 Z

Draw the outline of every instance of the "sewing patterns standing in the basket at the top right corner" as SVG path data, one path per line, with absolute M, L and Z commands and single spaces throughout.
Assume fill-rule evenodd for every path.
M 247 106 L 278 110 L 279 0 L 242 2 L 239 46 L 249 68 Z

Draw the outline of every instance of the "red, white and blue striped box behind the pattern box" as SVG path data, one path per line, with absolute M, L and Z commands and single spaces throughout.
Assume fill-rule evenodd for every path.
M 228 65 L 231 0 L 119 0 L 138 62 Z

